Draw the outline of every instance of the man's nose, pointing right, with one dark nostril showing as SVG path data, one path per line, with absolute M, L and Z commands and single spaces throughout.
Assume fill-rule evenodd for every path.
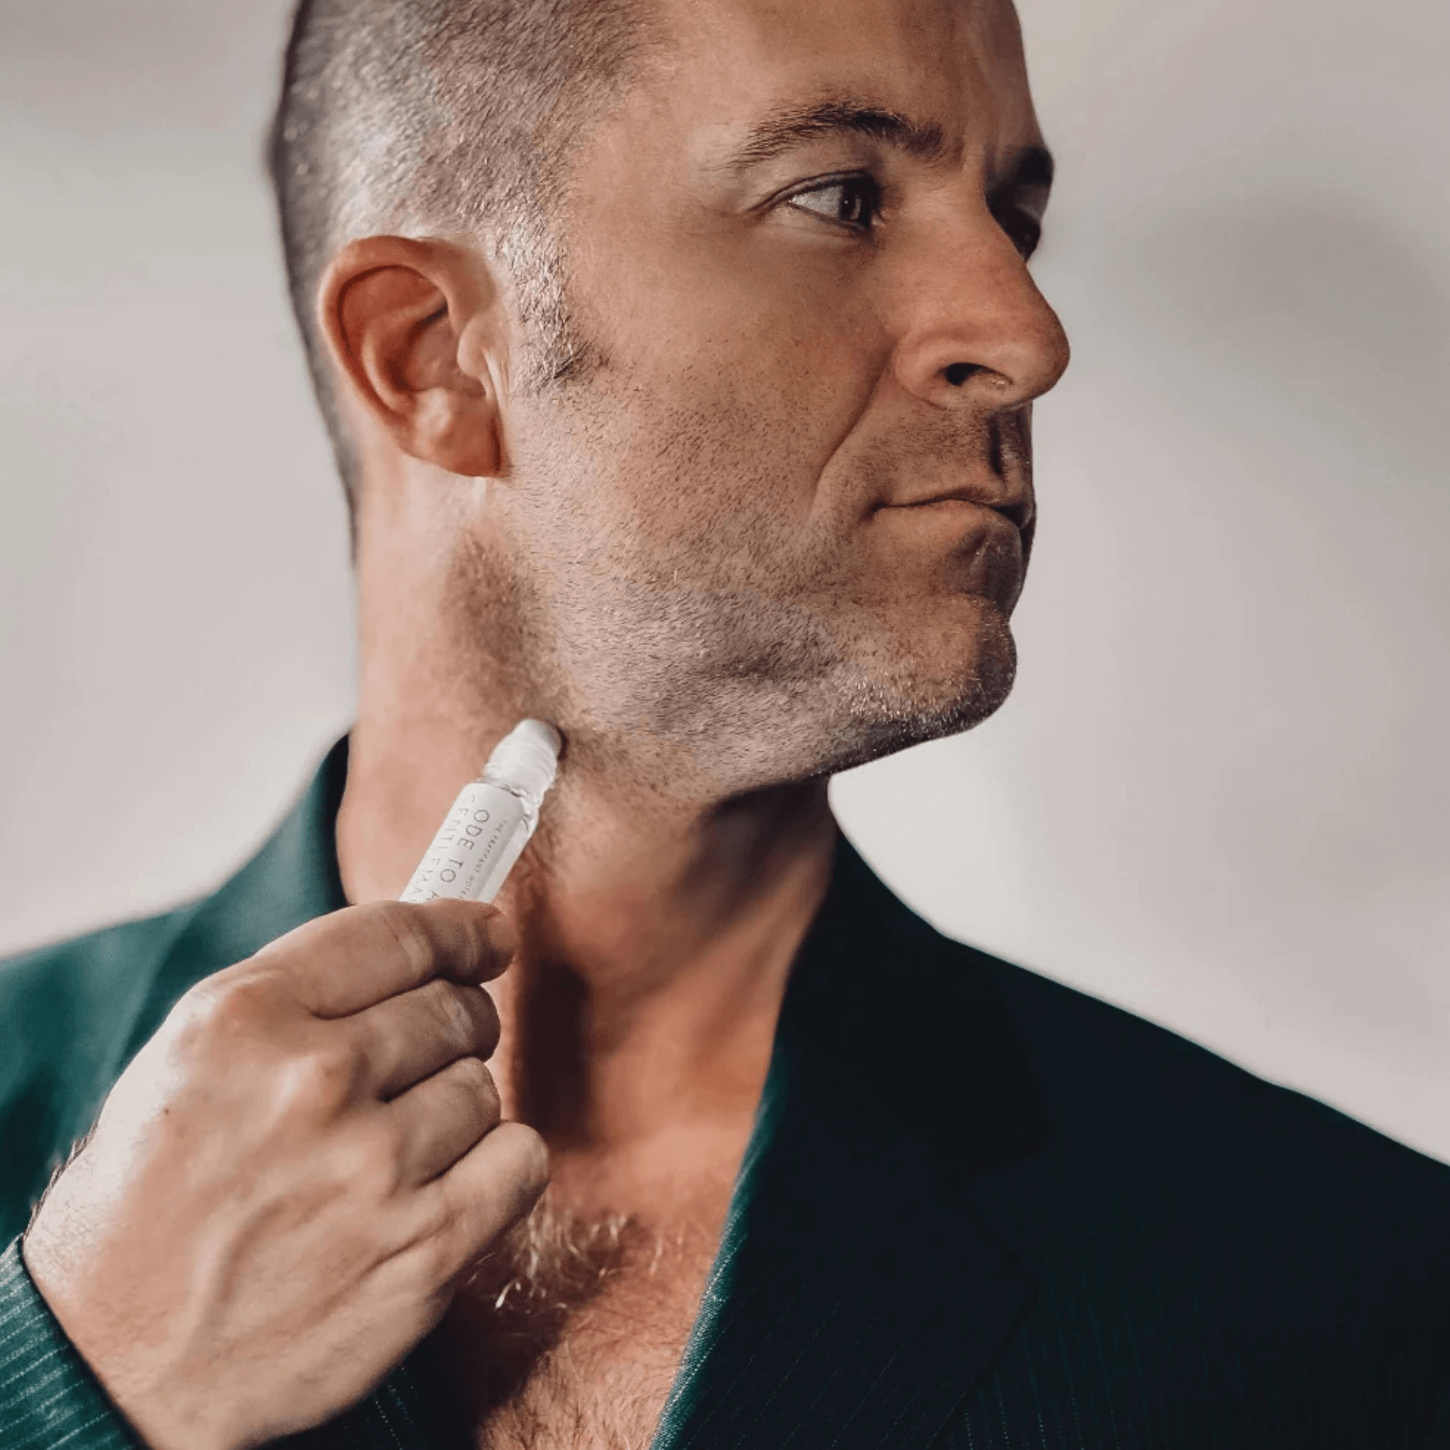
M 905 268 L 895 368 L 938 407 L 1019 407 L 1066 371 L 1067 334 L 990 216 L 922 236 Z

